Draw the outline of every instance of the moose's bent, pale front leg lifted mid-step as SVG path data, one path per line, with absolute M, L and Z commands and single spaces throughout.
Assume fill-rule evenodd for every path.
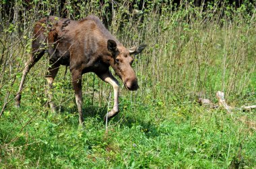
M 111 74 L 111 72 L 108 70 L 108 72 L 104 74 L 97 74 L 104 82 L 108 82 L 113 86 L 114 89 L 114 107 L 111 111 L 109 111 L 106 116 L 104 117 L 104 121 L 106 121 L 106 117 L 108 119 L 111 119 L 115 115 L 119 113 L 119 82 L 117 79 Z

